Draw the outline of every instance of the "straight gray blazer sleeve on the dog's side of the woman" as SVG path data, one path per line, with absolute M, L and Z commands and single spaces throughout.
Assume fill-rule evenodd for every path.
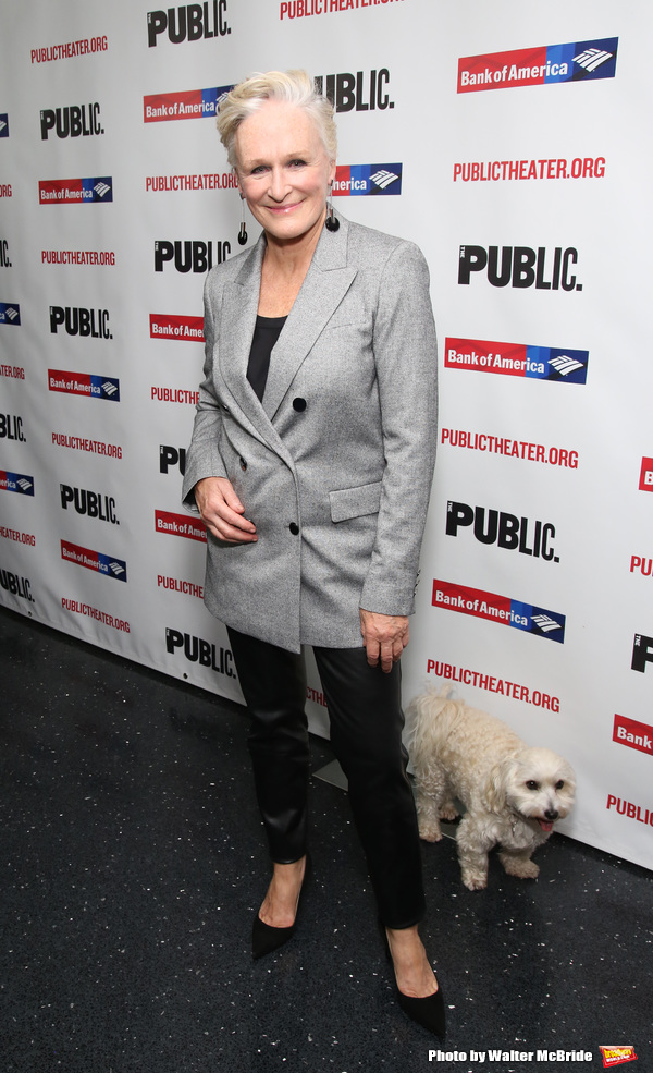
M 438 442 L 438 347 L 429 269 L 412 243 L 399 243 L 385 264 L 373 351 L 385 468 L 360 607 L 410 614 Z

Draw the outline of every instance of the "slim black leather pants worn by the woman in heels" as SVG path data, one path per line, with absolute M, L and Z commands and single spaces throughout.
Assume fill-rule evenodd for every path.
M 309 744 L 303 655 L 229 630 L 270 856 L 288 864 L 307 850 Z M 349 782 L 354 821 L 387 927 L 424 913 L 417 816 L 402 744 L 401 670 L 370 667 L 364 648 L 313 648 L 331 744 Z

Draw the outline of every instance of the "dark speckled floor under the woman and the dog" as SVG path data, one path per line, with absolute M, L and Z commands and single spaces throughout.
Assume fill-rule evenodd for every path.
M 537 881 L 493 861 L 471 893 L 454 843 L 424 844 L 449 1025 L 430 1060 L 345 793 L 312 780 L 300 927 L 252 963 L 268 865 L 244 709 L 7 610 L 0 668 L 1 1073 L 602 1070 L 601 1045 L 653 1070 L 650 873 L 554 836 Z M 591 1058 L 538 1060 L 558 1049 Z

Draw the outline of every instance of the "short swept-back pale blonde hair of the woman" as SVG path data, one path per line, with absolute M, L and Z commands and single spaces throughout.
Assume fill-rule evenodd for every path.
M 266 74 L 257 72 L 239 82 L 219 106 L 218 132 L 232 168 L 236 167 L 236 133 L 241 123 L 254 115 L 267 100 L 281 100 L 305 108 L 316 122 L 329 159 L 335 160 L 337 135 L 333 105 L 329 98 L 317 93 L 306 71 L 268 71 Z

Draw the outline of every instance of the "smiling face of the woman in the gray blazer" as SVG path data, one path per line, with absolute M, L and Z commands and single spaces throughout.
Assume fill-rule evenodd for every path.
M 335 161 L 303 108 L 267 100 L 236 132 L 236 172 L 251 215 L 279 242 L 322 227 Z

